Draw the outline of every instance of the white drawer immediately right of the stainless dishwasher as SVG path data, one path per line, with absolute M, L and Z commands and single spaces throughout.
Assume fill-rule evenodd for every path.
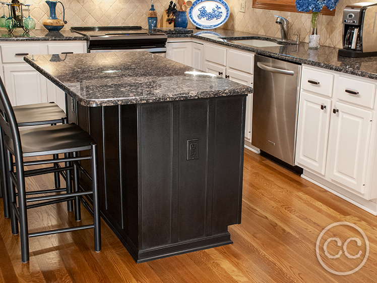
M 334 75 L 302 67 L 301 88 L 332 96 Z

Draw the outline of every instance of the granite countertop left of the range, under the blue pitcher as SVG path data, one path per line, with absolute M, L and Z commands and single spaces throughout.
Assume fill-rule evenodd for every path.
M 86 36 L 68 29 L 62 29 L 59 32 L 35 29 L 27 34 L 22 28 L 17 28 L 13 31 L 13 35 L 9 35 L 7 29 L 0 28 L 0 35 L 0 41 L 87 40 Z

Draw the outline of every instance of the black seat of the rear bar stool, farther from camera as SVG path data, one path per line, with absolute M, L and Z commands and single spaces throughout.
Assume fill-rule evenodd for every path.
M 54 102 L 14 106 L 19 127 L 59 124 L 66 114 Z

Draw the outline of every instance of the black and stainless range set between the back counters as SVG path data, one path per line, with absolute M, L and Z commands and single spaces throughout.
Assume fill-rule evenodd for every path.
M 88 52 L 149 51 L 166 53 L 167 35 L 141 26 L 71 27 L 89 37 Z

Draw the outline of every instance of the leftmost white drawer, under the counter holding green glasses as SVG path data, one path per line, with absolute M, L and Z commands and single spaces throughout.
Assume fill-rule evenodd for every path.
M 39 44 L 3 45 L 1 48 L 3 63 L 24 62 L 24 56 L 40 54 Z

